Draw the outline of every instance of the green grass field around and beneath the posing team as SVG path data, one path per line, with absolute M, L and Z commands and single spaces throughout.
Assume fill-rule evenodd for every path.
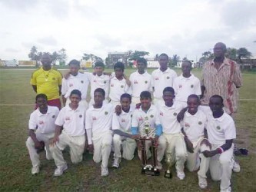
M 54 161 L 46 161 L 42 152 L 41 172 L 32 176 L 32 165 L 25 147 L 28 118 L 35 102 L 35 93 L 29 84 L 32 71 L 0 69 L 0 191 L 203 191 L 198 188 L 197 174 L 187 170 L 185 180 L 178 180 L 175 174 L 171 180 L 163 177 L 165 166 L 160 177 L 141 175 L 137 156 L 133 161 L 122 161 L 118 170 L 110 168 L 109 176 L 102 178 L 100 165 L 92 161 L 91 154 L 85 153 L 81 164 L 73 165 L 68 151 L 65 151 L 68 171 L 62 177 L 53 177 Z M 126 73 L 132 71 L 128 69 Z M 200 77 L 201 71 L 193 73 Z M 237 157 L 241 172 L 232 174 L 232 189 L 256 191 L 256 74 L 243 73 L 243 80 L 235 118 L 236 143 L 238 147 L 248 148 L 249 155 Z M 208 179 L 208 189 L 204 191 L 218 191 L 218 187 L 218 182 Z

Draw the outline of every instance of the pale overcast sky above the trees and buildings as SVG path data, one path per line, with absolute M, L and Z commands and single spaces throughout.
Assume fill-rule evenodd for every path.
M 65 48 L 83 53 L 162 52 L 199 59 L 218 41 L 256 57 L 255 0 L 0 0 L 0 58 L 28 60 Z

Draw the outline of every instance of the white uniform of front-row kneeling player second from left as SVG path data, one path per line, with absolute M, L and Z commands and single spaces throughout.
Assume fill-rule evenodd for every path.
M 50 147 L 57 167 L 66 164 L 62 151 L 67 146 L 70 148 L 71 162 L 77 164 L 82 161 L 85 150 L 85 111 L 80 105 L 75 110 L 67 105 L 59 112 L 55 124 L 63 127 L 63 130 L 58 136 L 58 143 Z

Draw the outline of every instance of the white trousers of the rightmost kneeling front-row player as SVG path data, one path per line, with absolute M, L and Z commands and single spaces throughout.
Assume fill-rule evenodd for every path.
M 211 145 L 211 150 L 215 150 L 220 145 Z M 212 180 L 221 180 L 221 190 L 227 190 L 231 185 L 231 174 L 233 168 L 233 157 L 234 144 L 227 151 L 222 154 L 216 154 L 214 157 L 210 157 L 209 169 Z

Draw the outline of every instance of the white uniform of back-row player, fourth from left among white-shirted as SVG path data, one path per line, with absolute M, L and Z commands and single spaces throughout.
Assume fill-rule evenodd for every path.
M 151 75 L 145 71 L 144 74 L 139 74 L 138 71 L 130 75 L 131 81 L 131 102 L 133 104 L 140 103 L 140 94 L 142 91 L 151 91 Z

